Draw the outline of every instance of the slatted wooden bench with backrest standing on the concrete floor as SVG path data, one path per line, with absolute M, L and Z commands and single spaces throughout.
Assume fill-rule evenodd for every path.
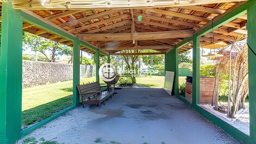
M 81 96 L 83 108 L 86 104 L 100 107 L 102 102 L 114 95 L 111 85 L 100 86 L 99 82 L 77 85 L 77 90 Z

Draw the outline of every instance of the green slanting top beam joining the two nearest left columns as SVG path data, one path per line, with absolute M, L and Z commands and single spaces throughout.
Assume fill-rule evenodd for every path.
M 22 15 L 24 21 L 31 23 L 39 28 L 48 30 L 49 32 L 51 32 L 53 34 L 64 37 L 65 39 L 69 39 L 72 41 L 74 41 L 76 39 L 76 37 L 74 35 L 72 35 L 68 32 L 65 32 L 64 29 L 62 30 L 61 28 L 53 27 L 51 24 L 47 23 L 44 19 L 39 19 L 39 17 L 36 18 L 24 11 L 21 11 L 21 15 Z

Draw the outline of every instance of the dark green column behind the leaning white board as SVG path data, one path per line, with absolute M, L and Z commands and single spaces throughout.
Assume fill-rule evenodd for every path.
M 164 55 L 164 69 L 166 71 L 173 71 L 174 75 L 174 84 L 173 84 L 173 91 L 174 95 L 179 95 L 179 52 L 178 48 L 172 49 L 172 51 L 166 53 Z

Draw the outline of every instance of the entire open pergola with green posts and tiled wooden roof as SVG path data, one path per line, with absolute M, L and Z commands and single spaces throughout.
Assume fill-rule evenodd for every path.
M 256 0 L 23 1 L 2 2 L 0 49 L 0 143 L 14 143 L 80 104 L 80 51 L 96 55 L 164 54 L 165 70 L 175 72 L 174 95 L 245 143 L 256 143 Z M 248 18 L 248 20 L 247 20 Z M 73 47 L 73 105 L 21 129 L 22 31 Z M 248 35 L 247 35 L 248 33 Z M 248 42 L 250 135 L 199 105 L 200 47 Z M 179 53 L 193 48 L 192 103 L 179 96 Z M 142 50 L 124 53 L 124 50 Z M 153 49 L 154 52 L 144 52 Z

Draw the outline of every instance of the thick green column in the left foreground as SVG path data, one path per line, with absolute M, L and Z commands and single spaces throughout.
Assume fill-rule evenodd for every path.
M 21 137 L 22 17 L 11 3 L 2 5 L 0 49 L 0 143 Z

